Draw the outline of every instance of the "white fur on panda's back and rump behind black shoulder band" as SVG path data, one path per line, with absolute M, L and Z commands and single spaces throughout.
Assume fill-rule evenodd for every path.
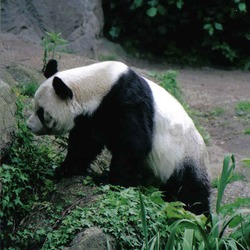
M 153 92 L 155 107 L 153 147 L 147 164 L 166 182 L 187 157 L 203 166 L 205 145 L 181 104 L 162 87 L 145 80 Z

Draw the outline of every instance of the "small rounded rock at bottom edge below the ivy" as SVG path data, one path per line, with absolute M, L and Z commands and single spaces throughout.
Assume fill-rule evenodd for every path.
M 108 248 L 109 244 L 109 248 Z M 97 227 L 87 228 L 78 233 L 68 248 L 65 250 L 106 250 L 115 249 L 114 239 L 103 233 L 102 229 Z

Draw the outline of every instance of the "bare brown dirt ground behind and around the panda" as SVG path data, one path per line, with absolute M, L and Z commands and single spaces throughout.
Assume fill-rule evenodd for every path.
M 37 69 L 38 78 L 43 77 L 43 50 L 18 39 L 10 34 L 0 34 L 0 78 L 11 82 L 6 71 L 13 65 L 22 65 Z M 91 63 L 85 57 L 63 54 L 60 69 L 67 69 Z M 133 61 L 134 67 L 141 70 L 176 70 L 178 82 L 184 92 L 186 102 L 199 112 L 199 122 L 210 135 L 208 153 L 213 178 L 221 170 L 223 157 L 233 153 L 237 169 L 246 176 L 246 180 L 230 184 L 227 198 L 250 197 L 250 170 L 242 167 L 241 160 L 250 158 L 250 135 L 244 129 L 250 128 L 250 118 L 237 115 L 235 106 L 239 101 L 250 101 L 250 72 L 238 70 L 226 71 L 212 68 L 178 68 L 162 64 Z

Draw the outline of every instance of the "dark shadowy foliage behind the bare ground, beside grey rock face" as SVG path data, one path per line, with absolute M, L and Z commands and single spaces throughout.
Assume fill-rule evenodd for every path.
M 103 0 L 103 9 L 104 34 L 130 51 L 250 68 L 249 1 Z

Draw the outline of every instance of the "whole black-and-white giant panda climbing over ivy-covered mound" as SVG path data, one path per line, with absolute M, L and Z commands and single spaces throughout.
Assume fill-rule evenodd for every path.
M 209 213 L 204 141 L 165 89 L 115 61 L 58 72 L 51 60 L 44 75 L 27 126 L 36 135 L 69 132 L 68 153 L 57 172 L 86 174 L 106 146 L 111 184 L 156 185 L 166 201 Z

